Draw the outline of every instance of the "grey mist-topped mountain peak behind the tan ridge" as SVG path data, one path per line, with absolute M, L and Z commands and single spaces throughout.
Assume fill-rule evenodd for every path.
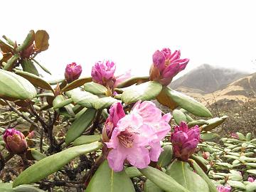
M 170 87 L 175 90 L 185 90 L 185 92 L 210 93 L 223 89 L 231 82 L 245 77 L 245 75 L 248 75 L 248 73 L 203 64 L 171 82 Z

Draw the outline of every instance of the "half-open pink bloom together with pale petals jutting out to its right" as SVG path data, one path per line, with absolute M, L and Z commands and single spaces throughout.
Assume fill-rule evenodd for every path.
M 110 60 L 99 61 L 92 67 L 92 81 L 112 89 L 113 87 L 117 87 L 120 82 L 131 77 L 130 71 L 119 76 L 114 76 L 115 70 L 116 65 L 114 62 Z

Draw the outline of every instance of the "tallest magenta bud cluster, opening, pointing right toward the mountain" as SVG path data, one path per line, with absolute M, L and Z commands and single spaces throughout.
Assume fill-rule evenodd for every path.
M 169 85 L 174 76 L 186 68 L 188 61 L 188 58 L 181 59 L 180 50 L 175 50 L 174 53 L 171 53 L 169 48 L 156 50 L 149 71 L 150 80 L 156 80 L 165 86 Z

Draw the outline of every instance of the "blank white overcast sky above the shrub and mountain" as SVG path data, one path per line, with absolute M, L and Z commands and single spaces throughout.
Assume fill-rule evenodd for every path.
M 252 73 L 255 8 L 253 0 L 1 1 L 0 34 L 21 43 L 31 29 L 48 31 L 50 47 L 36 58 L 58 78 L 68 63 L 90 75 L 104 59 L 117 75 L 148 75 L 151 55 L 164 47 L 190 58 L 186 71 L 208 63 Z

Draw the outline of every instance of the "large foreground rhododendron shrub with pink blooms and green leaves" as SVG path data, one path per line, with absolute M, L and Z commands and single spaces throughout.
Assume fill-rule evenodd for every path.
M 130 70 L 116 75 L 122 63 L 103 60 L 92 69 L 86 68 L 92 63 L 63 63 L 63 79 L 48 81 L 43 76 L 50 71 L 36 60 L 48 40 L 46 31 L 32 30 L 23 42 L 6 36 L 0 41 L 0 189 L 227 188 L 208 178 L 205 162 L 211 154 L 201 151 L 226 117 L 212 118 L 200 102 L 168 87 L 188 65 L 180 50 L 149 53 L 146 77 Z M 44 71 L 40 76 L 38 68 Z M 82 70 L 91 70 L 91 76 Z M 161 111 L 159 103 L 169 111 Z M 248 182 L 255 183 L 252 179 Z

